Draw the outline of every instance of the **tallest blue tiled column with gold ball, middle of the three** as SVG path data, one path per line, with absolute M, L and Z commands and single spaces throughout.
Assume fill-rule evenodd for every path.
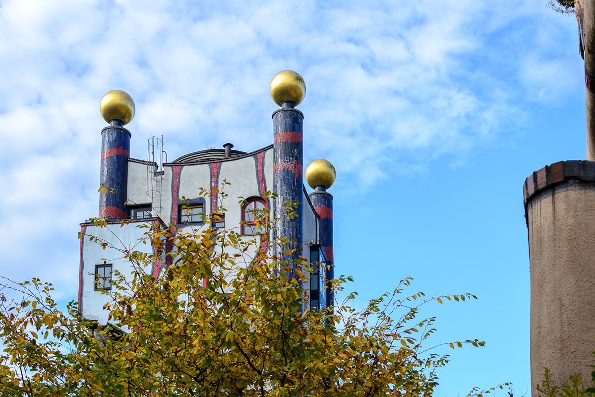
M 281 250 L 275 245 L 275 254 L 295 264 L 303 242 L 303 114 L 295 107 L 306 95 L 306 84 L 295 71 L 284 70 L 273 77 L 270 92 L 281 107 L 273 112 L 273 192 L 278 195 L 273 202 L 273 238 L 287 241 Z M 290 209 L 290 203 L 296 207 Z M 287 248 L 292 254 L 283 253 Z

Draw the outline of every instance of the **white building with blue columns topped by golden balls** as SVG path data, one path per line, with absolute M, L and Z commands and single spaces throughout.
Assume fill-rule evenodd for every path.
M 152 253 L 151 246 L 139 243 L 146 231 L 137 228 L 139 223 L 162 223 L 176 233 L 218 227 L 253 236 L 262 231 L 256 230 L 250 210 L 266 210 L 275 222 L 269 238 L 287 239 L 297 248 L 289 255 L 274 254 L 289 261 L 301 255 L 318 264 L 318 272 L 310 275 L 311 282 L 305 286 L 308 305 L 332 308 L 333 295 L 324 288 L 324 280 L 334 278 L 333 196 L 326 190 L 333 185 L 335 170 L 326 160 L 312 161 L 305 178 L 315 191 L 308 195 L 303 185 L 303 114 L 296 109 L 306 94 L 305 83 L 299 74 L 281 71 L 273 78 L 270 91 L 280 106 L 272 115 L 271 145 L 242 152 L 226 143 L 223 149 L 192 152 L 171 162 L 167 156 L 163 161 L 163 142 L 155 137 L 149 139 L 147 160 L 130 156 L 132 135 L 124 126 L 134 117 L 133 99 L 123 91 L 108 92 L 100 105 L 109 126 L 101 131 L 100 184 L 105 189 L 99 198 L 99 217 L 107 220 L 107 227 L 87 222 L 81 224 L 81 232 L 115 247 Z M 224 180 L 231 183 L 225 187 L 226 198 L 201 194 L 201 189 L 216 192 Z M 268 191 L 277 197 L 268 197 Z M 245 205 L 238 204 L 239 197 L 245 198 Z M 296 217 L 287 219 L 287 202 L 297 204 Z M 218 211 L 221 207 L 226 211 Z M 206 222 L 209 219 L 214 220 L 212 224 Z M 122 220 L 130 222 L 121 226 Z M 255 256 L 258 249 L 251 254 Z M 155 261 L 148 271 L 159 277 L 165 262 Z M 132 266 L 117 249 L 104 250 L 95 241 L 81 239 L 79 310 L 102 325 L 108 321 L 102 307 L 109 297 L 101 290 L 111 288 L 109 280 L 115 270 L 130 274 Z

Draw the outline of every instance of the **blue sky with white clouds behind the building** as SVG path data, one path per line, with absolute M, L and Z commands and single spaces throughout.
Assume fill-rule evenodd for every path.
M 268 86 L 306 82 L 305 164 L 331 161 L 336 273 L 365 299 L 430 305 L 452 354 L 435 395 L 513 382 L 530 395 L 522 183 L 585 158 L 574 15 L 546 0 L 0 0 L 0 274 L 76 299 L 79 223 L 97 215 L 99 101 L 128 92 L 131 156 L 272 143 Z M 587 363 L 585 363 L 587 364 Z M 506 396 L 505 392 L 497 395 Z

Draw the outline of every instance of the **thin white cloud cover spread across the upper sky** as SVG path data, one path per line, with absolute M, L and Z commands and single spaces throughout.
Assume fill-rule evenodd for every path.
M 335 189 L 423 174 L 443 155 L 464 165 L 524 122 L 527 92 L 576 86 L 559 78 L 570 50 L 547 52 L 575 34 L 568 21 L 537 0 L 516 4 L 2 2 L 3 270 L 76 289 L 77 224 L 98 205 L 98 105 L 115 88 L 137 105 L 137 158 L 152 135 L 169 160 L 270 144 L 268 83 L 289 68 L 308 85 L 305 160 L 333 162 Z

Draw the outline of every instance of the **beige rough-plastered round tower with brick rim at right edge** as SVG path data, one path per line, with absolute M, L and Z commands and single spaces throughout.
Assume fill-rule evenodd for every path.
M 531 271 L 531 385 L 595 362 L 595 162 L 560 161 L 524 185 Z M 586 384 L 586 383 L 585 383 Z

